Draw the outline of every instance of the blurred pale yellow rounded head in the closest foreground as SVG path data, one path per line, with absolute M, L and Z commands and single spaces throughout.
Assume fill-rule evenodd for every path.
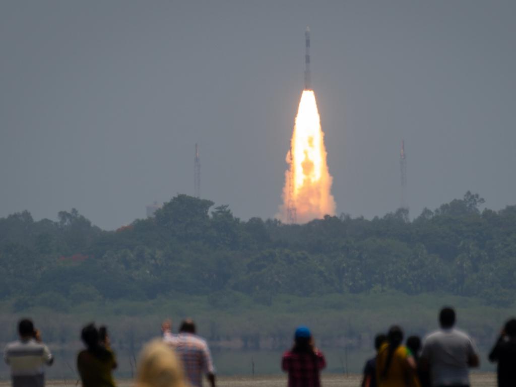
M 175 351 L 160 340 L 143 347 L 138 361 L 136 387 L 189 387 Z

